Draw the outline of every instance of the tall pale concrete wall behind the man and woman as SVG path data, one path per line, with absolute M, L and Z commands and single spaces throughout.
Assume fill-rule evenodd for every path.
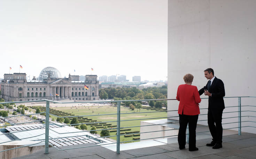
M 206 68 L 213 68 L 215 76 L 223 80 L 226 97 L 256 96 L 255 8 L 255 0 L 168 1 L 169 99 L 176 98 L 178 85 L 184 84 L 183 76 L 186 73 L 194 75 L 192 85 L 202 88 L 207 83 L 203 74 Z M 256 99 L 242 98 L 242 105 L 246 104 L 256 105 Z M 225 105 L 236 106 L 238 99 L 225 99 Z M 207 107 L 208 101 L 202 100 L 200 108 Z M 176 109 L 178 102 L 169 101 L 168 110 Z M 227 108 L 224 112 L 237 110 Z M 201 111 L 201 114 L 205 113 L 207 110 Z M 173 115 L 177 115 L 177 112 L 168 113 L 168 116 Z M 237 113 L 223 116 L 235 115 Z M 207 119 L 207 116 L 200 118 Z

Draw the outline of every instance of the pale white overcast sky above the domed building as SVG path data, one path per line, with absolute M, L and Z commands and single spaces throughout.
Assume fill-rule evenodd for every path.
M 0 78 L 124 74 L 166 80 L 167 0 L 1 0 Z

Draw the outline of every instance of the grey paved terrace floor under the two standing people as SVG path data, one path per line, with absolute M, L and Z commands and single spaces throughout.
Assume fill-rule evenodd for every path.
M 79 148 L 72 150 L 59 151 L 55 148 L 49 148 L 49 154 L 44 154 L 44 149 L 17 159 L 252 159 L 256 158 L 256 134 L 242 133 L 242 135 L 226 135 L 223 136 L 223 148 L 212 149 L 205 146 L 206 143 L 210 143 L 211 139 L 201 139 L 196 141 L 196 146 L 199 151 L 188 151 L 188 145 L 186 149 L 179 150 L 178 143 L 164 144 L 153 147 L 138 148 L 131 150 L 121 151 L 120 154 L 111 151 L 102 146 Z M 87 146 L 89 144 L 79 144 L 66 147 L 60 147 L 61 149 L 74 148 Z M 93 145 L 93 143 L 90 143 Z

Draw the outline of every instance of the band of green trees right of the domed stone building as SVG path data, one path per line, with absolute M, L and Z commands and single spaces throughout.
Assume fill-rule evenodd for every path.
M 114 100 L 142 100 L 142 99 L 167 99 L 167 86 L 162 87 L 148 87 L 142 90 L 135 87 L 132 88 L 103 88 L 99 90 L 101 99 Z M 136 106 L 138 102 L 125 102 L 126 106 L 130 104 Z M 157 108 L 167 107 L 167 101 L 149 101 L 150 106 Z

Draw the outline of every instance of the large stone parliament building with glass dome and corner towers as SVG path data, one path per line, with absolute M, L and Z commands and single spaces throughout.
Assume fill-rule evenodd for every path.
M 97 75 L 86 75 L 85 81 L 79 76 L 61 78 L 59 70 L 44 68 L 39 80 L 33 77 L 26 80 L 26 73 L 4 74 L 1 95 L 6 101 L 26 100 L 99 100 L 99 81 Z

